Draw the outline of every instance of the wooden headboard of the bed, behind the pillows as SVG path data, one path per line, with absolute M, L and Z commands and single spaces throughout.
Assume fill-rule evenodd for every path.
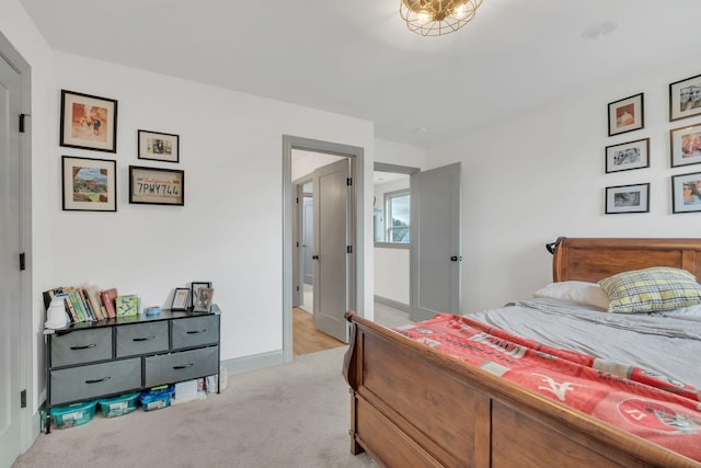
M 555 282 L 595 283 L 628 270 L 671 266 L 701 283 L 701 239 L 559 238 L 548 250 L 553 250 Z

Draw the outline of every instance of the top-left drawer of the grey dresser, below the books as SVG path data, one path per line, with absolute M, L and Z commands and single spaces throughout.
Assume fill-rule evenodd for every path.
M 51 367 L 112 358 L 112 328 L 55 333 L 51 340 Z

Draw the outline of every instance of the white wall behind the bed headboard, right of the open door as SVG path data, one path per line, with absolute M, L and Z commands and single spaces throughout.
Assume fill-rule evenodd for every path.
M 668 84 L 700 57 L 650 64 L 528 115 L 473 128 L 428 151 L 430 168 L 462 161 L 463 310 L 529 297 L 552 278 L 545 242 L 566 237 L 699 237 L 701 214 L 671 214 Z M 607 105 L 644 92 L 645 128 L 608 137 Z M 650 138 L 651 167 L 607 174 L 605 147 Z M 651 183 L 648 214 L 605 215 L 607 186 Z

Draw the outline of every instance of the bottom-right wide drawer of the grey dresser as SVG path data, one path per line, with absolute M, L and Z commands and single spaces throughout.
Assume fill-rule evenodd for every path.
M 219 346 L 146 357 L 145 387 L 219 374 Z

